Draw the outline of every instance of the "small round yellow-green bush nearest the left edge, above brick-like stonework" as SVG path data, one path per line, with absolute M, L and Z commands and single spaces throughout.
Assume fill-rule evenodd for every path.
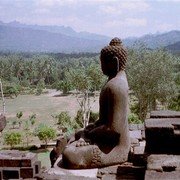
M 15 145 L 20 144 L 22 141 L 22 136 L 20 132 L 9 132 L 4 136 L 4 142 L 7 145 L 11 146 L 11 149 L 14 148 Z

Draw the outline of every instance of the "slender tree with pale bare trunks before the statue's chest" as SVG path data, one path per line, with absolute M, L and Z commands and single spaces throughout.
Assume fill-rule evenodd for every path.
M 78 68 L 71 68 L 69 79 L 76 90 L 77 101 L 83 116 L 83 127 L 86 127 L 89 123 L 92 105 L 96 100 L 96 91 L 100 89 L 105 78 L 99 65 L 92 63 L 89 67 L 81 65 Z

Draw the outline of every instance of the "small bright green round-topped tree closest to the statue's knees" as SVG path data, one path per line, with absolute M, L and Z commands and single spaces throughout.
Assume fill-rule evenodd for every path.
M 45 143 L 45 148 L 47 148 L 48 142 L 56 137 L 56 131 L 45 124 L 40 125 L 36 129 L 35 134 L 38 136 L 40 141 Z

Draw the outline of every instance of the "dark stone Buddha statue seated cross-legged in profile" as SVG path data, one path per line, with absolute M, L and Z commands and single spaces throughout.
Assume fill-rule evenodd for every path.
M 99 120 L 69 140 L 62 153 L 65 168 L 98 168 L 127 161 L 130 138 L 126 61 L 127 52 L 119 38 L 101 50 L 101 69 L 108 80 L 100 93 Z

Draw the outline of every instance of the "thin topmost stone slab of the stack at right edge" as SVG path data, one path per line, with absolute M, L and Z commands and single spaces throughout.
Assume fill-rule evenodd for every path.
M 150 118 L 180 118 L 180 111 L 151 111 Z

